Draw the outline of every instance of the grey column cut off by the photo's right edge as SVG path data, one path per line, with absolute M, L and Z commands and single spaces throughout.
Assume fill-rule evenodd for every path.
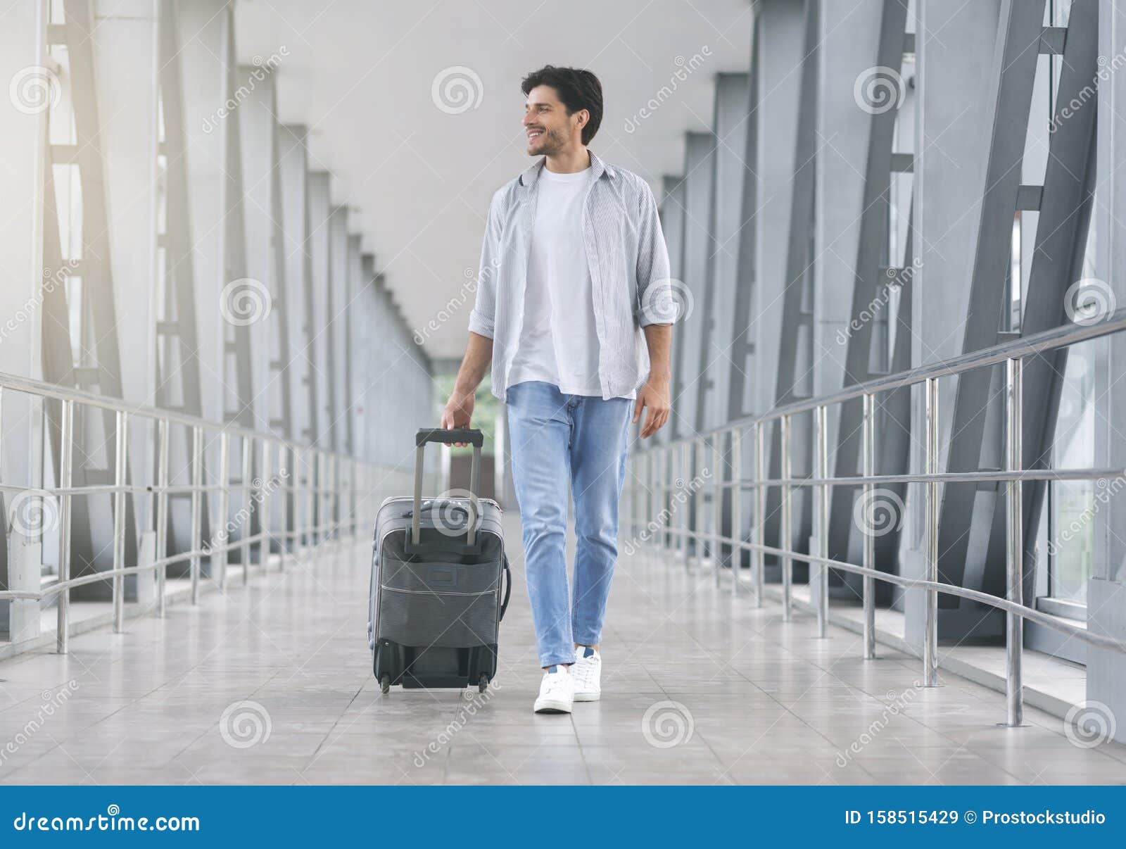
M 1118 56 L 1126 34 L 1126 9 L 1112 0 L 1099 2 L 1099 55 Z M 1101 65 L 1100 65 L 1101 68 Z M 1126 304 L 1126 173 L 1119 167 L 1126 150 L 1126 77 L 1121 71 L 1100 74 L 1098 126 L 1099 203 L 1094 229 L 1096 272 Z M 1126 367 L 1126 337 L 1110 337 L 1100 345 L 1103 357 L 1094 370 L 1097 466 L 1126 467 L 1126 387 L 1118 379 Z M 1101 361 L 1099 361 L 1101 360 Z M 1094 565 L 1087 586 L 1087 627 L 1126 642 L 1126 499 L 1111 498 L 1094 513 Z M 1116 740 L 1126 742 L 1126 656 L 1103 649 L 1087 654 L 1087 696 L 1117 720 Z M 1089 706 L 1090 707 L 1090 706 Z M 1102 711 L 1100 706 L 1093 706 Z

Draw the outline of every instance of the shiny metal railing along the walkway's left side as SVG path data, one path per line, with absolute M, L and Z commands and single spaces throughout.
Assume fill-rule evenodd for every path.
M 345 535 L 355 536 L 366 525 L 357 515 L 359 493 L 369 492 L 375 486 L 375 473 L 405 471 L 401 467 L 387 467 L 358 459 L 350 455 L 319 448 L 313 445 L 296 443 L 276 434 L 257 431 L 231 422 L 208 421 L 173 410 L 162 410 L 154 406 L 129 404 L 122 399 L 110 399 L 82 390 L 74 390 L 56 384 L 35 381 L 0 373 L 0 402 L 8 392 L 53 400 L 61 404 L 60 409 L 60 456 L 57 486 L 19 486 L 0 484 L 0 493 L 21 493 L 39 499 L 57 499 L 56 517 L 59 531 L 59 574 L 57 579 L 37 590 L 19 589 L 0 591 L 0 602 L 36 601 L 42 602 L 57 597 L 59 615 L 56 624 L 56 647 L 60 653 L 69 649 L 70 635 L 70 590 L 99 581 L 113 582 L 114 629 L 124 629 L 125 611 L 125 578 L 127 575 L 155 572 L 157 574 L 157 615 L 164 616 L 167 566 L 173 563 L 189 563 L 190 600 L 198 601 L 202 561 L 212 558 L 211 578 L 221 590 L 226 588 L 227 573 L 232 565 L 242 566 L 242 582 L 249 580 L 251 549 L 258 546 L 258 565 L 265 571 L 270 556 L 270 548 L 277 543 L 279 569 L 285 569 L 288 554 L 297 548 L 309 548 L 327 540 L 339 540 Z M 116 464 L 111 484 L 73 485 L 73 448 L 74 448 L 74 410 L 75 405 L 111 411 L 116 415 Z M 154 480 L 145 483 L 128 483 L 128 431 L 135 418 L 150 420 L 157 426 L 157 463 L 152 470 Z M 169 444 L 170 426 L 180 424 L 189 429 L 190 445 L 185 471 L 190 483 L 171 484 L 169 482 Z M 218 470 L 214 482 L 204 479 L 204 434 L 218 437 Z M 242 468 L 234 474 L 230 466 L 231 439 L 241 440 Z M 39 450 L 43 443 L 39 440 Z M 274 459 L 277 459 L 275 467 Z M 260 458 L 261 473 L 252 474 L 254 459 Z M 42 456 L 36 463 L 42 466 Z M 304 465 L 304 471 L 296 468 L 296 480 L 288 481 L 288 472 Z M 33 465 L 34 467 L 34 465 Z M 270 481 L 277 475 L 282 480 L 276 485 Z M 307 485 L 303 485 L 307 484 Z M 218 497 L 217 515 L 222 528 L 212 539 L 203 538 L 203 495 L 213 493 Z M 113 566 L 95 573 L 79 577 L 70 575 L 70 530 L 71 501 L 77 497 L 108 494 L 114 499 L 114 533 L 113 533 Z M 154 512 L 152 529 L 155 531 L 155 556 L 148 563 L 125 564 L 125 499 L 128 495 L 153 495 L 150 506 Z M 189 551 L 175 554 L 167 552 L 169 497 L 176 494 L 190 495 L 193 544 Z M 245 511 L 249 521 L 252 515 L 258 515 L 260 527 L 257 534 L 244 534 L 233 542 L 229 538 L 232 531 L 249 530 L 235 525 L 231 527 L 231 497 L 241 497 L 242 507 L 239 513 Z M 274 495 L 289 495 L 282 500 L 283 515 L 278 522 L 282 527 L 274 529 L 272 512 Z M 365 495 L 366 498 L 366 495 Z M 236 516 L 239 515 L 236 513 Z M 316 521 L 320 519 L 320 521 Z M 328 521 L 325 521 L 328 519 Z M 225 530 L 223 529 L 225 528 Z M 220 543 L 218 540 L 224 542 Z M 229 553 L 240 551 L 240 563 L 230 563 Z M 217 569 L 216 569 L 217 560 Z M 216 574 L 217 572 L 217 574 Z

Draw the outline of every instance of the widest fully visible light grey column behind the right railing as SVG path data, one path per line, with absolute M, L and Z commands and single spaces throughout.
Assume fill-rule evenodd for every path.
M 962 351 L 971 287 L 972 245 L 977 240 L 983 175 L 993 125 L 988 81 L 1000 20 L 1000 0 L 960 7 L 923 0 L 915 35 L 914 251 L 911 286 L 911 364 L 924 365 Z M 939 468 L 945 467 L 954 383 L 939 382 Z M 913 392 L 911 470 L 926 466 L 923 387 Z M 924 488 L 909 488 L 900 569 L 922 578 Z M 906 637 L 922 644 L 921 591 L 894 591 L 906 613 Z

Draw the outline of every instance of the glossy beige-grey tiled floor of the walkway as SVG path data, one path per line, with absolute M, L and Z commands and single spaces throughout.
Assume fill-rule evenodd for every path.
M 364 542 L 77 636 L 66 656 L 0 662 L 0 781 L 1126 783 L 1126 747 L 1078 748 L 1035 709 L 998 727 L 991 690 L 918 688 L 913 659 L 859 660 L 856 634 L 819 640 L 808 616 L 781 623 L 652 555 L 618 566 L 602 700 L 534 715 L 518 548 L 485 695 L 381 695 Z

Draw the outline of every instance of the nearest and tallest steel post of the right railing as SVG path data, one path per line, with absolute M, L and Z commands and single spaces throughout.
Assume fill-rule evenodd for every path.
M 1019 357 L 1010 357 L 1004 363 L 1004 470 L 1018 473 L 1024 466 L 1022 450 L 1022 366 Z M 1024 484 L 1013 477 L 1006 483 L 1006 598 L 1017 605 L 1024 604 L 1024 557 L 1025 517 Z M 1021 677 L 1025 622 L 1016 613 L 1006 611 L 1004 680 L 1006 724 L 1017 726 L 1025 720 L 1025 694 Z

